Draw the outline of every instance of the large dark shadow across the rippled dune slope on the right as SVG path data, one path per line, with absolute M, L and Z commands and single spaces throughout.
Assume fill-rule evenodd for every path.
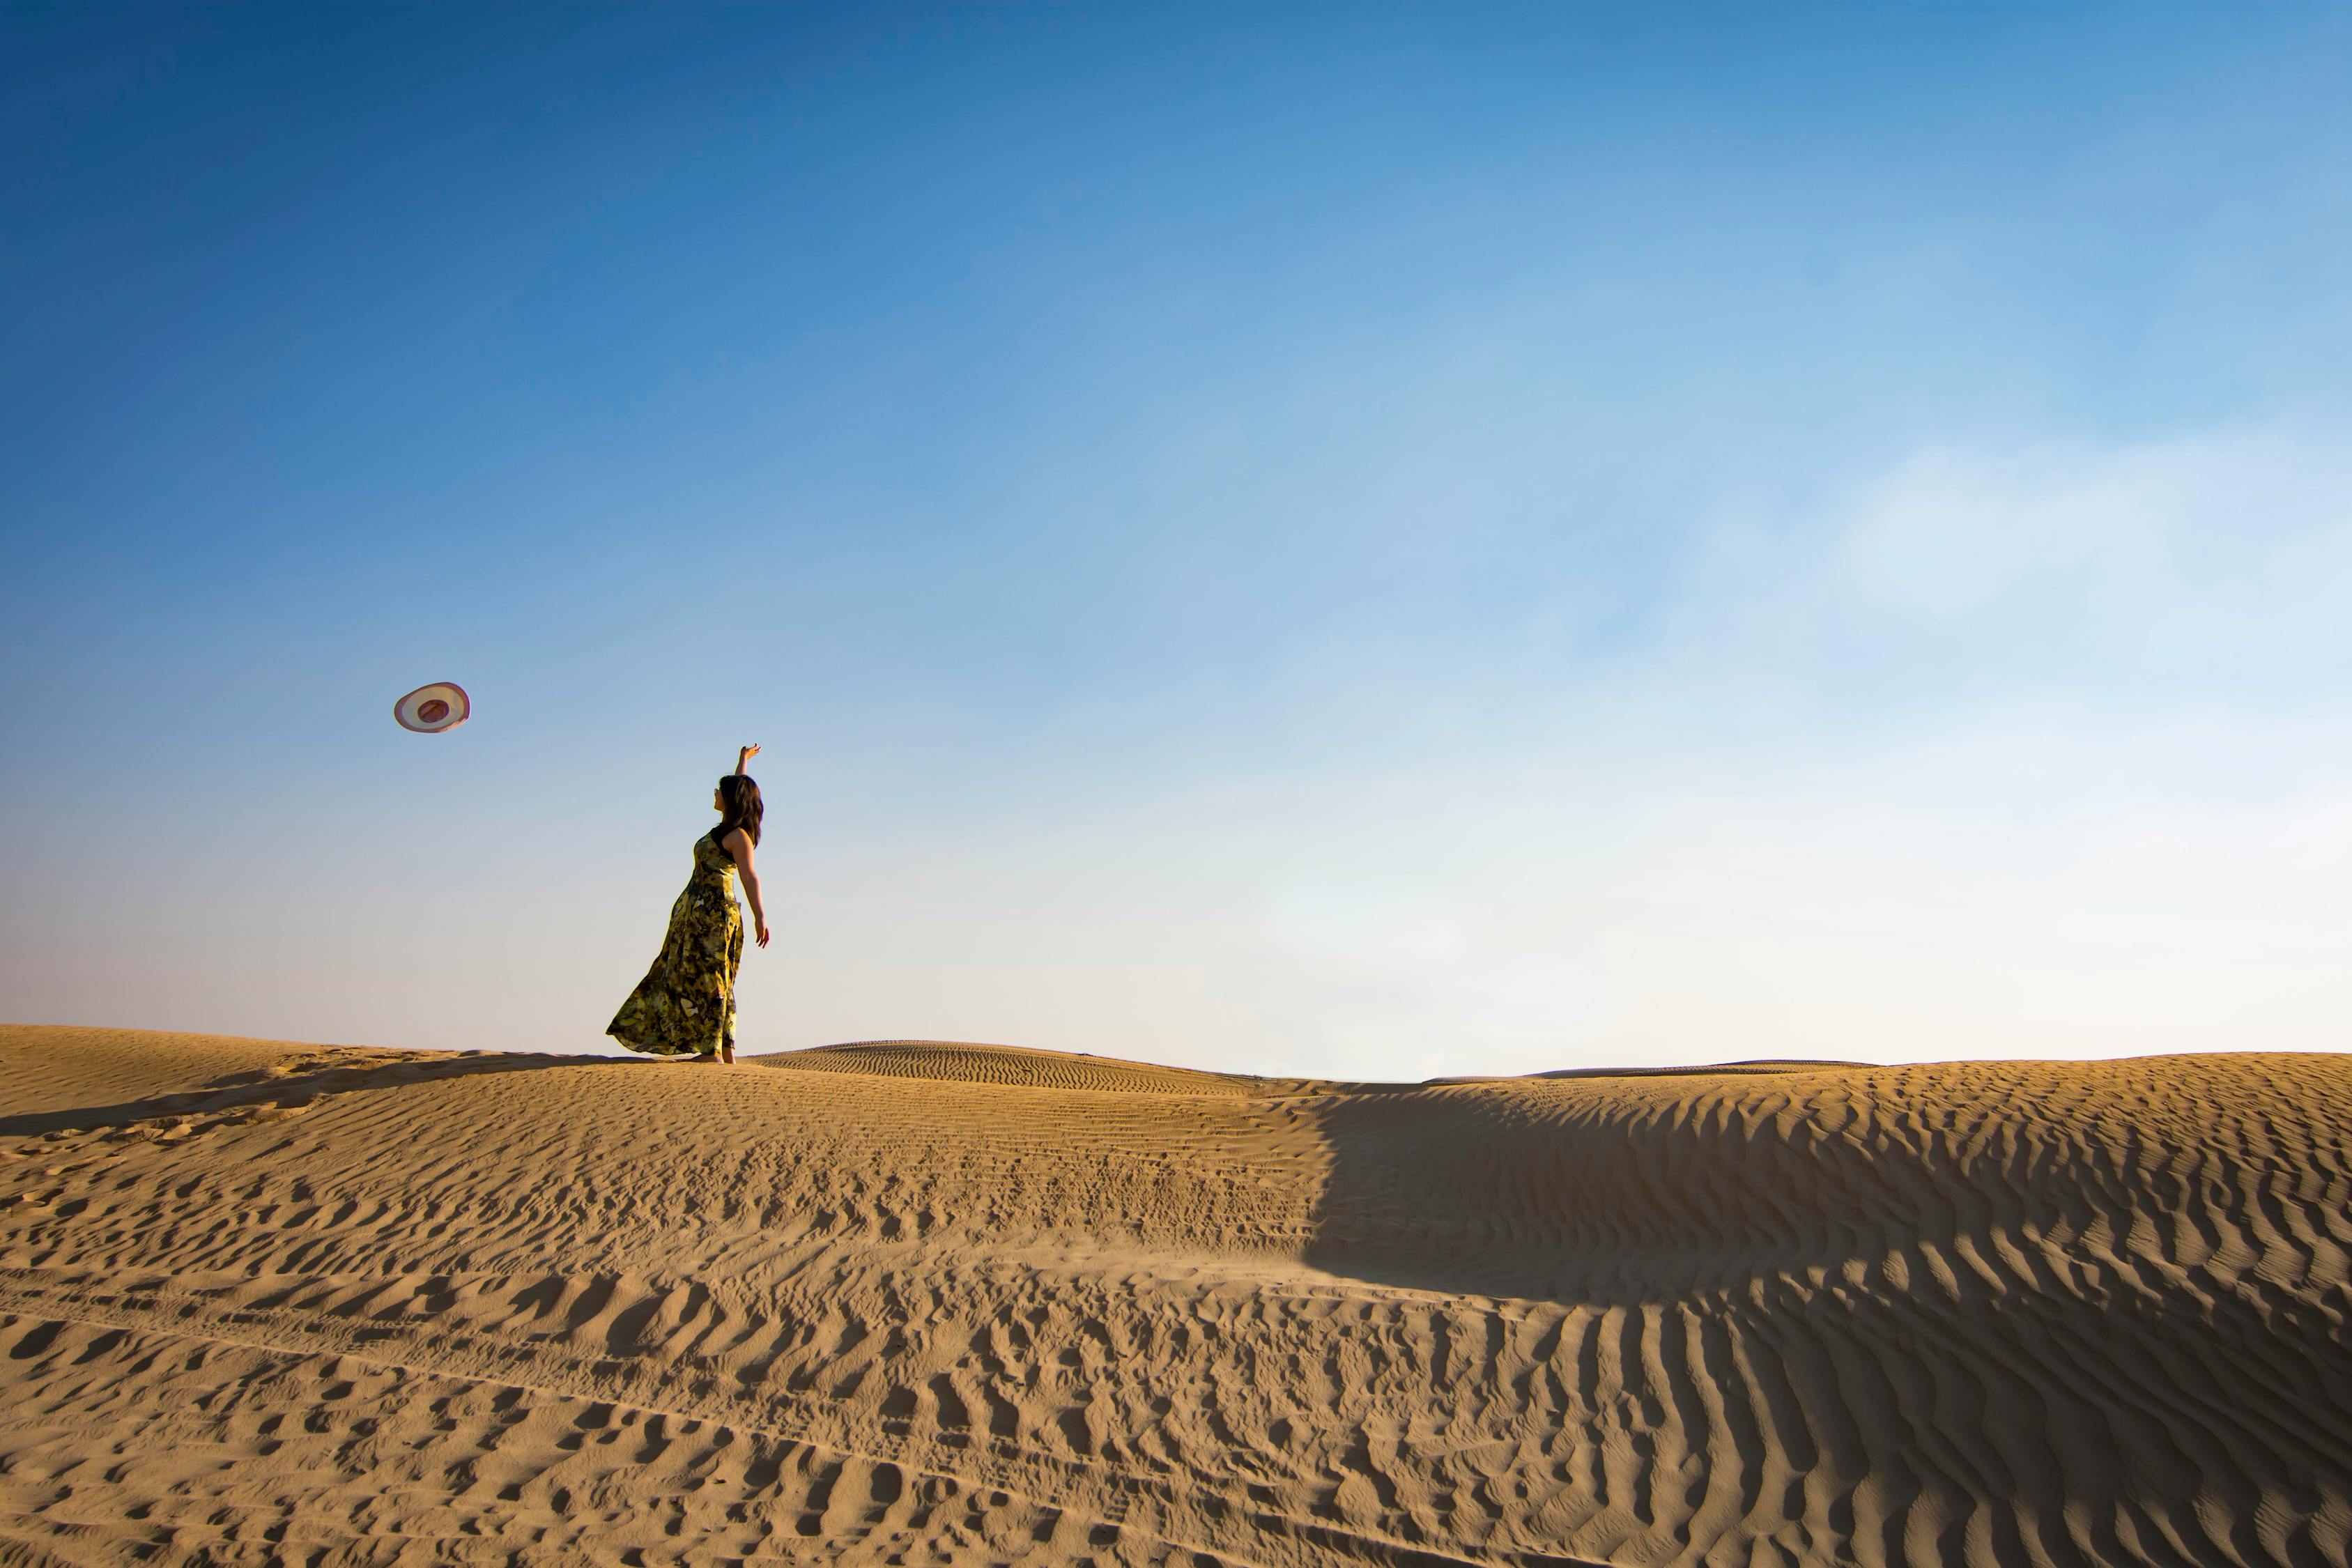
M 1562 1401 L 1595 1429 L 1646 1422 L 1712 1462 L 1738 1453 L 1743 1486 L 1762 1488 L 1769 1425 L 1795 1434 L 1797 1472 L 1933 1488 L 1943 1535 L 1907 1540 L 1922 1514 L 1886 1509 L 1865 1556 L 1969 1561 L 1985 1502 L 2122 1521 L 2126 1500 L 2173 1495 L 2230 1521 L 2230 1556 L 2319 1561 L 2260 1544 L 2256 1521 L 2352 1476 L 2343 1312 L 2305 1284 L 2343 1267 L 2314 1220 L 2321 1175 L 2296 1173 L 2288 1197 L 2272 1168 L 2232 1173 L 2241 1157 L 2218 1140 L 2133 1164 L 2032 1112 L 1962 1138 L 1933 1105 L 1856 1128 L 1835 1103 L 1792 1098 L 1769 1084 L 1334 1093 L 1317 1107 L 1331 1164 L 1303 1258 L 1376 1286 L 1588 1309 L 1534 1352 Z M 2194 1185 L 2164 1159 L 2187 1161 Z M 2159 1253 L 2173 1237 L 2206 1246 L 2220 1274 L 2197 1272 L 2194 1251 Z M 2246 1281 L 2225 1286 L 2239 1267 Z M 1437 1363 L 1463 1349 L 1454 1366 L 1503 1396 L 1512 1316 L 1486 1316 L 1484 1352 L 1479 1335 L 1437 1340 Z M 1534 1375 L 1519 1373 L 1522 1394 Z M 1630 1418 L 1642 1401 L 1651 1413 Z M 2098 1528 L 2070 1561 L 2145 1556 Z

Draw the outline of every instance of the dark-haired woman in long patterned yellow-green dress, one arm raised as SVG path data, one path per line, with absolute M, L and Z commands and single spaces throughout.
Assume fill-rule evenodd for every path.
M 743 914 L 729 886 L 736 872 L 743 875 L 750 917 L 767 947 L 760 875 L 750 867 L 764 806 L 760 785 L 743 773 L 743 764 L 757 755 L 757 745 L 746 745 L 736 755 L 736 771 L 710 792 L 720 825 L 694 839 L 694 875 L 670 905 L 661 957 L 604 1030 L 630 1051 L 734 1063 L 734 976 L 743 964 Z

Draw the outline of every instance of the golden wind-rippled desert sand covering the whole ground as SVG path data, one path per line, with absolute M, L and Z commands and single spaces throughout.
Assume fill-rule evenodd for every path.
M 0 1563 L 2345 1563 L 2352 1065 L 0 1030 Z

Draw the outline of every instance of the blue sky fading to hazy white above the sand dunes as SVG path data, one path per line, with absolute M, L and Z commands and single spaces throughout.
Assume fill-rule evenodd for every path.
M 760 741 L 755 1051 L 2336 1048 L 2347 66 L 0 12 L 0 1013 L 597 1048 Z

